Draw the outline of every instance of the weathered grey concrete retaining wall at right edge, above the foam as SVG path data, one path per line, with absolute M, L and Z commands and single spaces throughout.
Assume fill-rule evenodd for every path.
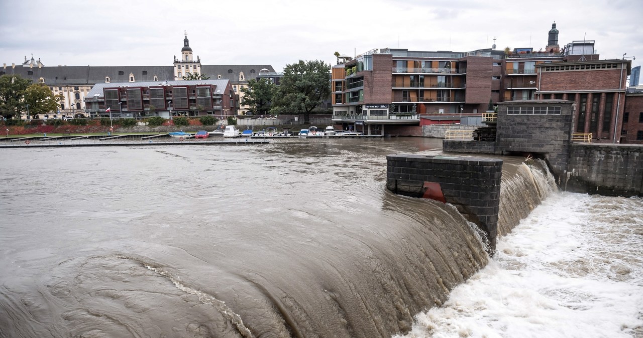
M 565 190 L 643 196 L 643 146 L 572 144 Z

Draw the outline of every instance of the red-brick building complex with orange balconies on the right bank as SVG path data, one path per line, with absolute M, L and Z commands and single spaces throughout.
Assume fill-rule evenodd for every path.
M 421 135 L 432 114 L 480 114 L 500 101 L 568 99 L 575 130 L 597 142 L 620 139 L 629 60 L 599 60 L 594 41 L 558 45 L 556 23 L 545 49 L 466 53 L 372 49 L 338 57 L 332 67 L 333 121 L 365 133 Z

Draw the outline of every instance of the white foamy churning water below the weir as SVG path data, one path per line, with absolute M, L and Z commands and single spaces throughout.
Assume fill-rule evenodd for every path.
M 643 337 L 643 200 L 556 193 L 395 337 Z

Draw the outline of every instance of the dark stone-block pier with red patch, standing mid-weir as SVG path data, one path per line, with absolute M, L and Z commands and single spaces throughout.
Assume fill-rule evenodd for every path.
M 466 156 L 386 156 L 386 188 L 455 205 L 496 248 L 502 160 Z

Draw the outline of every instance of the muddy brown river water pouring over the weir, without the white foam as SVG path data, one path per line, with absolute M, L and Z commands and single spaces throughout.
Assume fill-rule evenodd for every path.
M 451 205 L 385 190 L 435 140 L 6 149 L 2 337 L 390 337 L 489 261 Z M 499 233 L 552 189 L 505 159 Z

